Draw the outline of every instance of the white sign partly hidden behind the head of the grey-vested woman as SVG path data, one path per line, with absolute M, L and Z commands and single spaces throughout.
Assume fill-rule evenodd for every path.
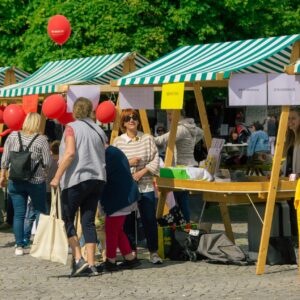
M 67 112 L 73 111 L 74 102 L 85 97 L 93 103 L 95 110 L 100 98 L 100 85 L 71 85 L 67 93 Z

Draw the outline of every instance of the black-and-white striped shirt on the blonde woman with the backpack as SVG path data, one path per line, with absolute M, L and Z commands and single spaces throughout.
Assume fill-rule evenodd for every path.
M 25 135 L 21 132 L 21 139 L 23 144 L 23 150 L 26 149 L 30 141 L 36 134 Z M 9 169 L 10 165 L 10 151 L 19 151 L 20 142 L 18 138 L 17 131 L 13 131 L 5 141 L 3 155 L 1 159 L 1 168 Z M 47 167 L 50 163 L 50 148 L 45 135 L 39 135 L 29 148 L 31 152 L 31 169 L 33 170 L 35 165 L 41 160 L 42 163 L 39 164 L 37 171 L 33 177 L 29 180 L 31 183 L 42 183 L 47 177 Z

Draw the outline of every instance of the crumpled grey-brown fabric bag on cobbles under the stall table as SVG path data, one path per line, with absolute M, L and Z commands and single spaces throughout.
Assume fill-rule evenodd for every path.
M 230 241 L 224 233 L 201 235 L 197 252 L 203 258 L 207 258 L 207 262 L 234 265 L 249 264 L 242 249 Z

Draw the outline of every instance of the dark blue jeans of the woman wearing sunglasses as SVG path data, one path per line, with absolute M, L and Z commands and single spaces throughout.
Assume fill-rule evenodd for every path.
M 156 221 L 156 199 L 154 192 L 140 193 L 141 199 L 138 201 L 138 208 L 141 215 L 141 220 L 147 240 L 147 246 L 150 252 L 158 250 L 158 232 Z M 124 231 L 128 236 L 132 249 L 136 249 L 135 241 L 135 225 L 134 214 L 128 215 L 124 224 Z M 131 220 L 130 220 L 131 219 Z

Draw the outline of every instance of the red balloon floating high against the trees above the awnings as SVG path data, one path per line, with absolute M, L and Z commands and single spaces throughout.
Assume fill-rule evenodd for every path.
M 71 26 L 69 20 L 62 15 L 55 15 L 48 21 L 48 35 L 58 45 L 64 44 L 70 37 Z

